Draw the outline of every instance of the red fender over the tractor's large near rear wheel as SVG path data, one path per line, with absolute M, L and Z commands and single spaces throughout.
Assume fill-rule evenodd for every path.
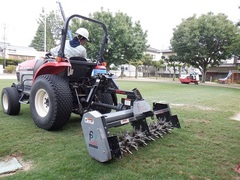
M 33 81 L 40 75 L 60 74 L 69 67 L 71 67 L 71 64 L 69 62 L 50 61 L 50 62 L 44 63 L 40 68 L 38 68 L 38 70 L 34 74 Z

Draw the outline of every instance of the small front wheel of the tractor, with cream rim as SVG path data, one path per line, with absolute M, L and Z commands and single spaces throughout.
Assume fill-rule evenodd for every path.
M 5 114 L 17 115 L 20 112 L 19 92 L 16 87 L 7 87 L 2 90 L 1 102 Z

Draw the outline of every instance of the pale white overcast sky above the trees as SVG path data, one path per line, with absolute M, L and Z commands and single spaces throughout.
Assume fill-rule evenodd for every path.
M 173 29 L 183 19 L 196 14 L 200 16 L 213 12 L 224 13 L 228 19 L 240 20 L 240 0 L 59 0 L 65 15 L 100 11 L 123 12 L 140 21 L 142 29 L 147 31 L 148 44 L 156 49 L 167 49 Z M 11 45 L 29 46 L 37 31 L 37 19 L 44 7 L 47 12 L 59 9 L 56 0 L 1 0 L 0 42 Z M 4 31 L 5 30 L 5 31 Z M 5 33 L 4 33 L 5 32 Z

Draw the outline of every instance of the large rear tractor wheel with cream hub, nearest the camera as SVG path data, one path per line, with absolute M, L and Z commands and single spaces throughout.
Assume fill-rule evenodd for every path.
M 72 111 L 72 94 L 62 77 L 39 76 L 30 92 L 30 109 L 35 124 L 45 130 L 57 130 L 67 124 Z

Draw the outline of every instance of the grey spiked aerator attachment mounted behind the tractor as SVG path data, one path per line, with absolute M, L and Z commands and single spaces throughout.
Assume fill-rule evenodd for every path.
M 116 108 L 118 111 L 107 114 L 94 110 L 86 112 L 82 117 L 81 125 L 88 153 L 94 159 L 106 162 L 112 158 L 121 158 L 124 153 L 132 154 L 149 141 L 172 133 L 173 128 L 181 128 L 177 115 L 172 116 L 168 104 L 153 103 L 152 110 L 137 89 L 116 92 L 127 95 L 127 98 L 122 99 L 121 110 Z M 146 119 L 154 119 L 154 116 L 156 120 L 148 125 Z M 119 133 L 118 136 L 110 134 L 109 128 L 129 123 L 133 131 Z

